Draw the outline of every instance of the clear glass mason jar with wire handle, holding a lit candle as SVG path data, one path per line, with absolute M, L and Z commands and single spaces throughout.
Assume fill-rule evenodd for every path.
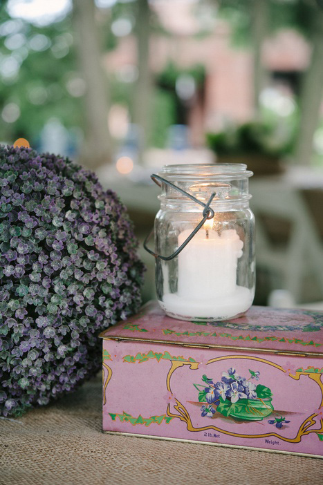
M 221 321 L 240 316 L 255 296 L 255 218 L 249 208 L 245 164 L 166 165 L 158 176 L 190 193 L 191 200 L 161 181 L 155 220 L 155 251 L 169 256 L 214 211 L 178 256 L 156 257 L 160 306 L 174 318 Z

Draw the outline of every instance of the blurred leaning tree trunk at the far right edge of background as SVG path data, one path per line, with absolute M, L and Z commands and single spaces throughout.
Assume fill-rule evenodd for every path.
M 311 65 L 304 74 L 300 99 L 301 120 L 295 147 L 295 162 L 311 164 L 313 136 L 320 117 L 323 95 L 323 10 L 315 8 L 312 29 Z

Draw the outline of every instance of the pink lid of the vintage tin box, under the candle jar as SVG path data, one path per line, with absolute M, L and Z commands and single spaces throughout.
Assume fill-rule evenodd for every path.
M 157 302 L 151 301 L 138 314 L 104 330 L 100 337 L 323 356 L 323 312 L 252 306 L 234 320 L 190 322 L 167 316 Z

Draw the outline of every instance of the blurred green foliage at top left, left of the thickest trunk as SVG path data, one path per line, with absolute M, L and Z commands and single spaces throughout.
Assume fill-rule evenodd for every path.
M 1 141 L 33 142 L 50 117 L 79 126 L 80 102 L 68 92 L 77 79 L 71 18 L 40 28 L 11 19 L 3 4 L 0 18 L 0 113 L 8 104 L 20 111 L 15 122 L 0 117 Z

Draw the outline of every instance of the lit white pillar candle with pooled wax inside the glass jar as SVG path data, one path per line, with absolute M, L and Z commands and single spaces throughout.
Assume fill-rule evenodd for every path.
M 178 255 L 177 293 L 164 294 L 160 302 L 177 318 L 224 320 L 246 312 L 252 303 L 252 291 L 237 285 L 243 242 L 235 229 L 219 234 L 212 222 L 207 221 Z M 191 232 L 179 234 L 178 247 Z

